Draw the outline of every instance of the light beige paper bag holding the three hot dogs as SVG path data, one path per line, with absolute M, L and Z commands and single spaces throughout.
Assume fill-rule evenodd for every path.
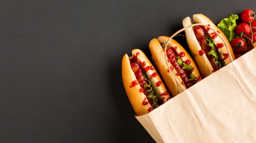
M 157 143 L 256 143 L 256 49 L 135 117 Z

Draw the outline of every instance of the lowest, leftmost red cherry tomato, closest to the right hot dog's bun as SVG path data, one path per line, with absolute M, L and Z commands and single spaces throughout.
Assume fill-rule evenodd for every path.
M 246 48 L 246 41 L 241 37 L 235 38 L 231 41 L 231 47 L 234 52 L 241 53 Z

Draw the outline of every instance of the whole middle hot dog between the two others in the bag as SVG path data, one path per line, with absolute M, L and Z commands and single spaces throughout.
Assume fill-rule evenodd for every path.
M 171 39 L 167 45 L 167 57 L 165 56 L 164 47 L 168 39 L 167 36 L 152 39 L 149 43 L 149 49 L 166 87 L 171 95 L 176 96 L 202 80 L 202 77 L 191 56 L 174 39 Z M 168 66 L 166 58 L 168 58 Z

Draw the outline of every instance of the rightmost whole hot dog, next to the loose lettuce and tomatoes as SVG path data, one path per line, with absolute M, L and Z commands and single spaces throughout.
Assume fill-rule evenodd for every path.
M 227 37 L 205 15 L 193 15 L 193 22 L 190 17 L 182 21 L 184 28 L 198 23 L 203 25 L 189 27 L 184 31 L 191 54 L 205 78 L 231 63 L 235 56 Z

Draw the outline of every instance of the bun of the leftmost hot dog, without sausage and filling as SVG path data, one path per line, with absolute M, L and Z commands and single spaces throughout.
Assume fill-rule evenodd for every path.
M 142 67 L 144 74 L 151 82 L 153 91 L 155 91 L 155 94 L 157 95 L 161 104 L 171 99 L 171 96 L 162 82 L 162 79 L 144 52 L 139 49 L 134 49 L 132 50 L 131 57 L 129 57 L 128 54 L 123 56 L 121 73 L 126 94 L 137 116 L 149 113 L 153 110 L 153 107 L 148 103 L 146 95 L 143 93 L 143 91 L 141 91 L 140 84 L 131 86 L 134 83 L 139 83 L 135 73 L 132 71 L 131 63 L 139 63 L 139 65 Z

